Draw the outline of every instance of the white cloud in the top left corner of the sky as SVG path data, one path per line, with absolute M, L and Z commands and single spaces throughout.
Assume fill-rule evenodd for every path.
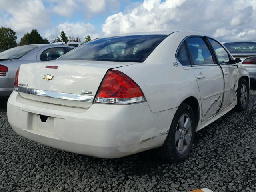
M 43 29 L 49 26 L 50 17 L 41 0 L 1 0 L 1 10 L 8 14 L 6 26 L 15 32 L 30 32 L 33 28 Z

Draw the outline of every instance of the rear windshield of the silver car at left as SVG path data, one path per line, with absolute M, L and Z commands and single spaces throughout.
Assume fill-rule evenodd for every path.
M 19 58 L 22 58 L 24 55 L 26 55 L 28 52 L 32 51 L 36 47 L 38 46 L 25 45 L 25 46 L 11 48 L 4 52 L 1 52 L 0 59 L 19 59 Z

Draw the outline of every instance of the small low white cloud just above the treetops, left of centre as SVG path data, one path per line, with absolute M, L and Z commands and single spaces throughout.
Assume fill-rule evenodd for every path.
M 44 36 L 51 40 L 51 37 L 59 36 L 60 32 L 64 30 L 66 36 L 79 36 L 81 41 L 84 41 L 84 37 L 90 35 L 92 39 L 99 37 L 100 35 L 96 32 L 95 27 L 90 23 L 83 22 L 64 22 L 58 24 L 58 26 L 52 28 L 51 30 L 47 30 L 44 33 Z

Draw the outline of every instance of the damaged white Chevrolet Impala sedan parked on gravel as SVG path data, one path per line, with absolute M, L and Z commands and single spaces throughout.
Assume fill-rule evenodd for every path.
M 78 154 L 119 158 L 160 147 L 180 162 L 196 131 L 246 110 L 249 76 L 239 61 L 198 32 L 98 38 L 55 61 L 21 65 L 8 121 L 17 134 Z

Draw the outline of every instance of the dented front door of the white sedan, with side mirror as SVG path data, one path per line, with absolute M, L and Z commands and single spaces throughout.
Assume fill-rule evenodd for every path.
M 216 40 L 208 38 L 212 48 L 218 59 L 218 63 L 224 73 L 224 98 L 222 109 L 228 107 L 236 101 L 236 88 L 238 86 L 238 68 L 237 64 L 230 64 L 232 62 L 228 52 Z

